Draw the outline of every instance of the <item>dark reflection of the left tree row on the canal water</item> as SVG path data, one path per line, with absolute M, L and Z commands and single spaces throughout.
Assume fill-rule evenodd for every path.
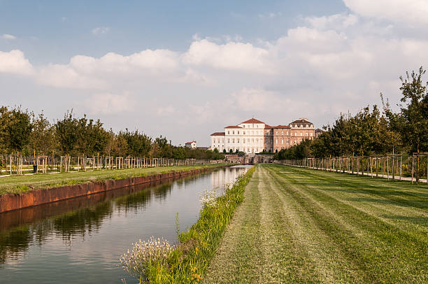
M 31 241 L 42 246 L 52 232 L 65 243 L 71 243 L 76 236 L 83 238 L 85 234 L 97 232 L 114 211 L 143 211 L 152 199 L 164 201 L 171 194 L 174 180 L 176 185 L 187 188 L 199 178 L 200 175 L 179 180 L 171 178 L 162 183 L 124 187 L 4 213 L 0 215 L 0 264 L 19 257 L 28 250 Z

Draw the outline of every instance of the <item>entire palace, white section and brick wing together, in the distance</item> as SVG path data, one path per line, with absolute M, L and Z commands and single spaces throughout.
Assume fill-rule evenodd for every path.
M 315 137 L 315 127 L 306 118 L 294 120 L 289 125 L 270 126 L 251 118 L 238 125 L 224 127 L 224 132 L 211 134 L 211 150 L 220 152 L 278 152 L 297 145 L 304 139 Z

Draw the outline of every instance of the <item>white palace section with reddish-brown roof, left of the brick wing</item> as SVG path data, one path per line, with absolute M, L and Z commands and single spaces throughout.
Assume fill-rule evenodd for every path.
M 252 118 L 241 122 L 239 125 L 224 127 L 223 132 L 211 134 L 211 150 L 217 148 L 220 152 L 257 153 L 264 149 L 265 123 Z M 219 141 L 224 141 L 220 143 Z

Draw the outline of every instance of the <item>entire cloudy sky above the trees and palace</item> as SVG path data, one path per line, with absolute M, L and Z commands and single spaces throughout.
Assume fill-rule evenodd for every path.
M 257 118 L 321 128 L 399 104 L 428 66 L 427 0 L 0 0 L 0 105 L 73 109 L 174 145 Z

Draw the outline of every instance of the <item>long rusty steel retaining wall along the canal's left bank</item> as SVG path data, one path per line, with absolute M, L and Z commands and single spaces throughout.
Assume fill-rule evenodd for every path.
M 157 180 L 164 180 L 167 178 L 190 176 L 197 173 L 211 171 L 213 169 L 218 169 L 219 167 L 224 166 L 214 166 L 190 171 L 172 171 L 170 173 L 159 173 L 153 176 L 124 178 L 122 180 L 105 180 L 95 183 L 66 185 L 62 187 L 49 188 L 47 190 L 31 190 L 29 192 L 25 192 L 24 194 L 3 194 L 0 196 L 0 213 L 75 197 L 82 197 L 99 192 L 106 192 L 108 190 L 117 190 L 121 187 L 128 187 L 131 185 L 141 185 L 143 183 L 152 183 Z

